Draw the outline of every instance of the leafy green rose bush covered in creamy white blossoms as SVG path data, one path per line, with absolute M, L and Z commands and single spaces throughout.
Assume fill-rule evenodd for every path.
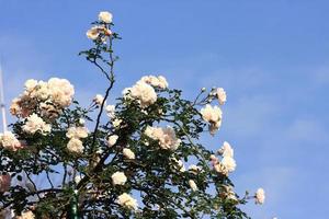
M 27 80 L 13 100 L 18 120 L 0 135 L 0 208 L 16 218 L 248 218 L 239 207 L 263 204 L 263 189 L 237 195 L 231 146 L 198 142 L 220 128 L 224 89 L 189 101 L 164 77 L 146 76 L 107 105 L 121 39 L 112 19 L 99 14 L 87 32 L 93 46 L 80 53 L 109 82 L 88 108 L 57 78 Z

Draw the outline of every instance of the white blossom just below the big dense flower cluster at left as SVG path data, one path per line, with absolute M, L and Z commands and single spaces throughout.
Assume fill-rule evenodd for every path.
M 35 134 L 41 131 L 41 134 L 46 135 L 52 129 L 49 124 L 46 124 L 38 115 L 32 114 L 27 117 L 25 125 L 23 125 L 23 130 L 27 134 Z

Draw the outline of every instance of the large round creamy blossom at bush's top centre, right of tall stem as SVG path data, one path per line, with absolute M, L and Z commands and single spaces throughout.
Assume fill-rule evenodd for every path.
M 129 95 L 132 99 L 137 100 L 143 108 L 154 104 L 157 101 L 157 93 L 155 89 L 144 81 L 138 81 L 131 89 Z

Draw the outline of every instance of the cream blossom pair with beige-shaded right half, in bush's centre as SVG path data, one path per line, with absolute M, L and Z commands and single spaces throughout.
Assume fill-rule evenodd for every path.
M 155 140 L 159 140 L 159 145 L 162 149 L 175 150 L 181 143 L 181 140 L 175 136 L 174 129 L 170 126 L 166 128 L 148 126 L 145 130 L 145 135 Z

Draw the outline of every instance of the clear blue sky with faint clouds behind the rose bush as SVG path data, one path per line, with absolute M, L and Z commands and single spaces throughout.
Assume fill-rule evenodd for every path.
M 238 193 L 264 187 L 266 203 L 243 209 L 257 219 L 328 218 L 329 1 L 0 0 L 7 104 L 30 78 L 67 78 L 86 105 L 103 93 L 102 76 L 77 56 L 102 10 L 123 37 L 112 100 L 150 73 L 190 99 L 225 88 L 223 126 L 206 143 L 235 148 Z

